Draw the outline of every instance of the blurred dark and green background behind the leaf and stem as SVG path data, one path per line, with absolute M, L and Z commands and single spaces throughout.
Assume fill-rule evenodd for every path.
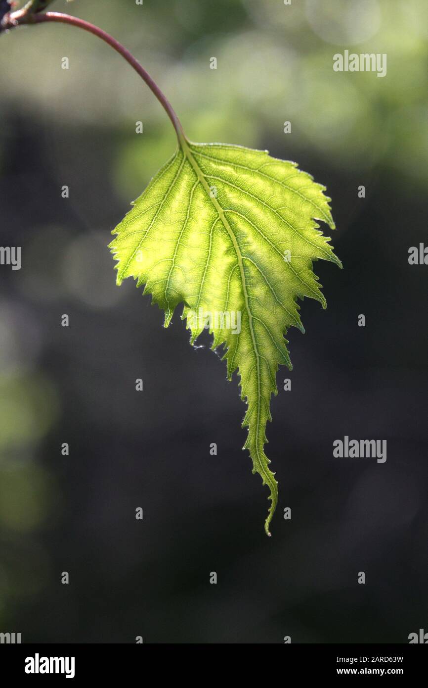
M 192 140 L 269 149 L 326 184 L 344 269 L 315 266 L 328 308 L 306 300 L 306 334 L 288 335 L 294 369 L 278 373 L 267 428 L 280 486 L 268 539 L 236 378 L 208 338 L 189 346 L 179 314 L 164 330 L 135 283 L 115 286 L 110 233 L 174 152 L 166 114 L 85 32 L 1 34 L 0 245 L 22 247 L 22 268 L 0 267 L 0 631 L 407 643 L 428 630 L 428 267 L 407 260 L 427 243 L 427 3 L 52 10 L 124 43 Z M 333 72 L 345 49 L 386 53 L 387 76 Z M 387 440 L 387 462 L 333 458 L 344 435 Z

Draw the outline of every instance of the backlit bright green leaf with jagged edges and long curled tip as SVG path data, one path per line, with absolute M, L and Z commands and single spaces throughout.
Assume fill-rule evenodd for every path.
M 284 334 L 291 325 L 304 332 L 297 298 L 326 307 L 313 261 L 341 266 L 315 222 L 335 227 L 323 191 L 294 162 L 267 151 L 183 140 L 110 244 L 117 284 L 135 277 L 145 285 L 165 311 L 165 327 L 183 303 L 190 341 L 208 324 L 212 349 L 224 346 L 229 380 L 238 369 L 244 449 L 270 490 L 268 535 L 278 484 L 264 454 L 265 430 L 278 365 L 291 369 Z

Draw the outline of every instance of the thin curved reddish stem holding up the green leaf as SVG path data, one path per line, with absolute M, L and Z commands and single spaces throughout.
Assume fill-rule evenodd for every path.
M 95 26 L 95 24 L 91 24 L 89 21 L 85 21 L 84 19 L 78 19 L 78 17 L 71 17 L 70 14 L 63 14 L 62 12 L 30 14 L 26 18 L 25 23 L 41 24 L 44 22 L 52 21 L 62 24 L 71 24 L 71 26 L 77 26 L 80 29 L 89 31 L 89 33 L 93 34 L 94 36 L 98 36 L 98 38 L 102 39 L 102 41 L 111 45 L 113 50 L 122 55 L 126 62 L 128 62 L 131 65 L 131 67 L 135 69 L 135 72 L 137 72 L 137 74 L 141 76 L 141 78 L 146 82 L 150 90 L 155 94 L 157 100 L 159 100 L 159 103 L 161 103 L 162 107 L 164 107 L 166 113 L 168 114 L 168 117 L 172 122 L 172 125 L 177 133 L 179 143 L 181 144 L 183 140 L 185 140 L 185 135 L 183 132 L 183 127 L 181 127 L 181 122 L 175 114 L 174 109 L 172 108 L 172 105 L 170 104 L 168 98 L 164 96 L 157 83 L 155 83 L 150 74 L 146 72 L 146 69 L 144 69 L 144 67 L 142 67 L 142 65 L 139 64 L 139 62 L 135 59 L 131 52 L 129 52 L 129 50 L 126 49 L 126 47 L 119 43 L 119 41 L 116 41 L 116 39 L 113 39 L 113 36 L 98 28 L 98 26 Z

